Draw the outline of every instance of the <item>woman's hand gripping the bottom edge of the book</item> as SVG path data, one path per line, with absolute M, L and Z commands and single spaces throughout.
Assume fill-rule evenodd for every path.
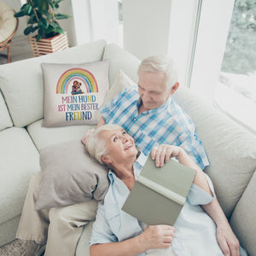
M 169 225 L 153 225 L 148 226 L 145 231 L 137 239 L 143 252 L 149 249 L 168 248 L 171 246 L 175 229 Z

